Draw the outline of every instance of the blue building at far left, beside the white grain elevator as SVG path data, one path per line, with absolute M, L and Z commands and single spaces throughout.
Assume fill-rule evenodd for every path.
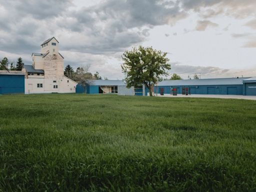
M 0 71 L 0 94 L 24 93 L 24 85 L 22 72 Z

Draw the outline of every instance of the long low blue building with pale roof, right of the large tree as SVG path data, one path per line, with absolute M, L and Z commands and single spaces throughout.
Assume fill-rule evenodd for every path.
M 154 93 L 160 93 L 160 89 L 163 88 L 163 93 L 170 94 L 171 90 L 176 88 L 177 94 L 181 94 L 184 87 L 188 88 L 190 94 L 256 95 L 256 78 L 163 80 L 154 86 Z

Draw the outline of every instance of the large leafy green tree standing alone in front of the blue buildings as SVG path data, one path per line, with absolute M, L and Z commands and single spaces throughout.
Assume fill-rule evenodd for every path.
M 170 69 L 166 52 L 152 47 L 133 47 L 122 54 L 122 72 L 125 73 L 127 87 L 144 84 L 152 96 L 151 86 L 157 82 L 160 75 L 167 75 Z

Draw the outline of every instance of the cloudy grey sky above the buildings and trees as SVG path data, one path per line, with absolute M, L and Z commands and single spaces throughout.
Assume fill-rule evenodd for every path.
M 256 76 L 256 0 L 0 0 L 0 59 L 54 36 L 64 65 L 122 79 L 132 46 L 168 52 L 183 78 Z

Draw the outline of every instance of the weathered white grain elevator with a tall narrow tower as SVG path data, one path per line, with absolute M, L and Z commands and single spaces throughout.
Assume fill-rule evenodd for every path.
M 41 53 L 32 53 L 32 65 L 24 65 L 25 94 L 75 92 L 76 82 L 64 76 L 64 57 L 55 37 L 41 44 Z

